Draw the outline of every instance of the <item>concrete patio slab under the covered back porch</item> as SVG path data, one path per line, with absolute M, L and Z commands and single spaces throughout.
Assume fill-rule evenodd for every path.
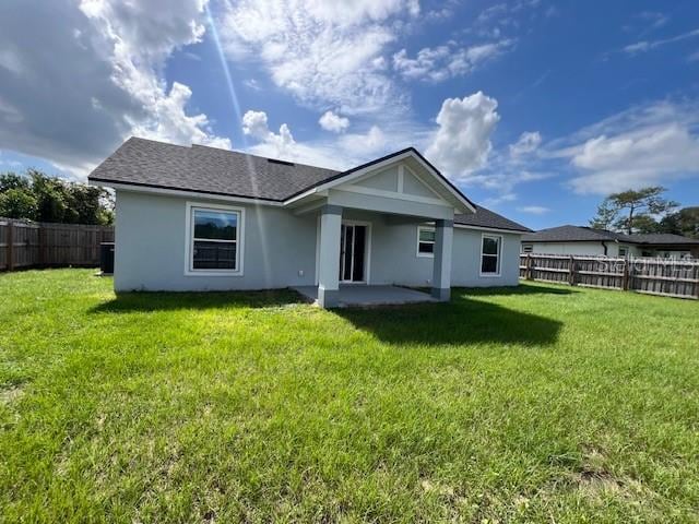
M 318 300 L 318 286 L 299 286 L 292 289 L 310 301 Z M 396 306 L 402 303 L 438 302 L 427 293 L 398 286 L 340 286 L 339 308 Z

